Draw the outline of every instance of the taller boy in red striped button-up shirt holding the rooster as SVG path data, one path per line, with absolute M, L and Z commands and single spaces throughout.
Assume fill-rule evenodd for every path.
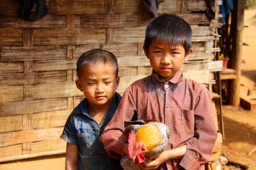
M 203 84 L 184 78 L 181 66 L 191 56 L 191 27 L 184 19 L 163 14 L 146 29 L 144 53 L 152 74 L 131 84 L 100 141 L 109 155 L 129 155 L 122 141 L 124 121 L 157 119 L 170 128 L 166 150 L 142 169 L 202 169 L 217 138 L 212 99 Z

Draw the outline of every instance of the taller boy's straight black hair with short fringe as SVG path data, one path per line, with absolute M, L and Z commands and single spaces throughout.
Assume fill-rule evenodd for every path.
M 162 14 L 148 24 L 144 48 L 148 50 L 152 39 L 156 39 L 174 46 L 183 45 L 187 54 L 192 48 L 191 32 L 190 25 L 184 19 L 173 14 Z

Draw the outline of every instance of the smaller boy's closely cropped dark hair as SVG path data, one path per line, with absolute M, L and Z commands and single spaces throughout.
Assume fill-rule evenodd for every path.
M 115 55 L 107 50 L 92 49 L 83 53 L 76 62 L 76 73 L 80 78 L 84 66 L 94 66 L 98 63 L 112 63 L 115 67 L 115 74 L 118 76 L 118 62 Z

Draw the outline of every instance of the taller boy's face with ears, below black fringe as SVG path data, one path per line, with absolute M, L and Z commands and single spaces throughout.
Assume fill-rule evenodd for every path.
M 160 42 L 153 39 L 148 50 L 144 48 L 144 53 L 150 59 L 152 68 L 158 73 L 160 78 L 167 82 L 180 70 L 184 61 L 190 57 L 191 48 L 185 56 L 183 45 L 170 46 L 167 42 Z

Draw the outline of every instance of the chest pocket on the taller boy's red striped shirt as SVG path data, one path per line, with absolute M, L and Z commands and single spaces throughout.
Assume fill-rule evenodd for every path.
M 194 134 L 194 130 L 195 130 L 194 111 L 181 110 L 181 126 L 183 126 L 183 133 Z

